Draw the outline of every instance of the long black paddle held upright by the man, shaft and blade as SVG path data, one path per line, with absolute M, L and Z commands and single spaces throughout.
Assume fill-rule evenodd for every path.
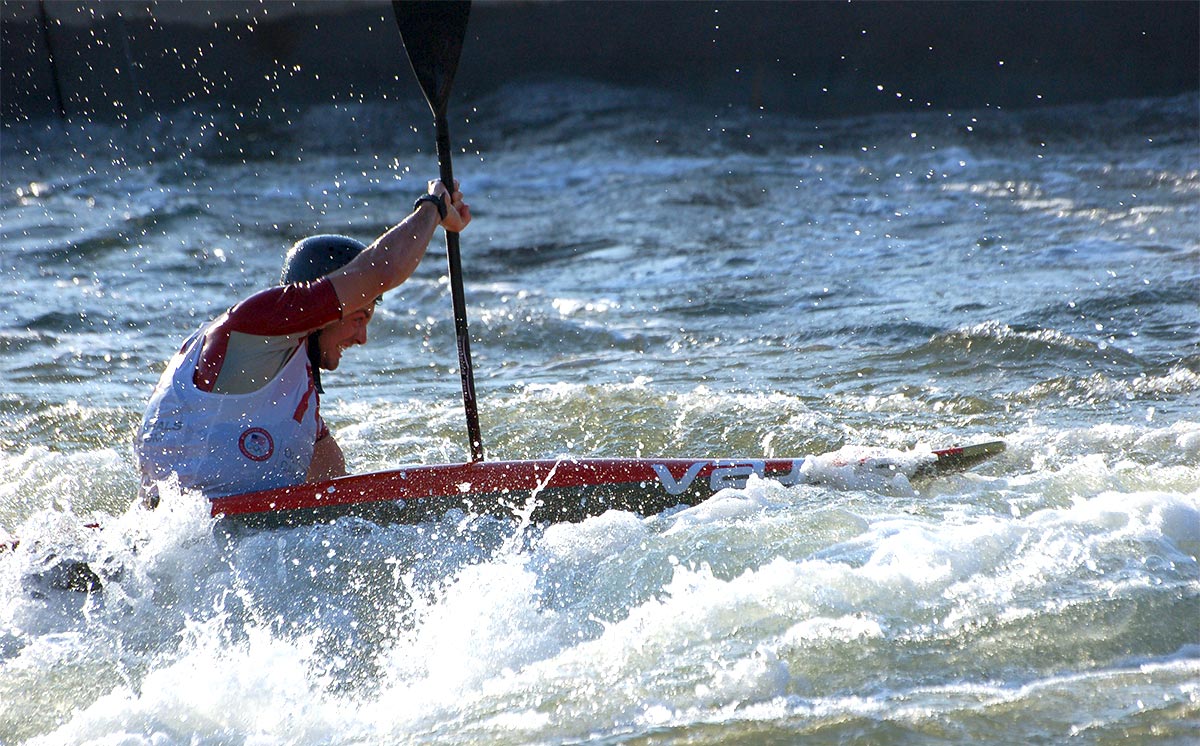
M 425 100 L 430 102 L 430 109 L 433 110 L 442 184 L 454 189 L 446 102 L 450 98 L 454 74 L 458 70 L 462 41 L 467 35 L 470 2 L 392 0 L 391 5 L 396 13 L 396 25 L 400 26 L 400 37 L 408 53 L 408 61 L 413 66 Z M 450 297 L 454 302 L 455 336 L 458 339 L 462 403 L 467 409 L 467 437 L 470 439 L 470 459 L 478 462 L 484 461 L 484 440 L 479 432 L 479 410 L 475 405 L 475 374 L 470 365 L 470 337 L 467 329 L 467 301 L 462 289 L 458 234 L 450 230 L 446 231 L 446 261 L 450 265 Z

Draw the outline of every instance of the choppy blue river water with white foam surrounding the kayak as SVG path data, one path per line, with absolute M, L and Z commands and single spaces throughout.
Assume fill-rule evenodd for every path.
M 455 102 L 490 457 L 1008 451 L 652 517 L 264 531 L 131 510 L 132 432 L 292 241 L 407 212 L 424 104 L 6 126 L 0 742 L 1192 742 L 1198 110 Z M 442 249 L 370 331 L 325 375 L 350 469 L 467 458 Z

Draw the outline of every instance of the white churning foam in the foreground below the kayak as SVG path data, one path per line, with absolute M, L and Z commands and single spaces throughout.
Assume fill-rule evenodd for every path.
M 862 458 L 923 456 L 812 461 Z M 1048 738 L 1195 714 L 1195 462 L 1190 492 L 1118 492 L 1122 464 L 1085 461 L 1064 464 L 1057 503 L 1024 477 L 932 498 L 755 480 L 656 517 L 523 530 L 451 515 L 228 534 L 186 495 L 98 531 L 42 512 L 0 558 L 4 698 L 24 710 L 68 675 L 16 730 L 35 744 L 518 744 L 846 718 L 928 734 L 1031 706 L 1045 716 L 1026 735 Z M 1002 497 L 964 501 L 980 485 Z M 107 572 L 103 594 L 37 579 L 64 547 Z M 1087 717 L 1068 724 L 1046 697 Z

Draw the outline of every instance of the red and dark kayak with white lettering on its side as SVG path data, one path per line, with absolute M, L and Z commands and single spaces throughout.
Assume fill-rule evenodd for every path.
M 1001 441 L 934 451 L 913 477 L 961 471 L 1004 450 Z M 696 505 L 750 475 L 805 481 L 803 458 L 562 458 L 407 467 L 212 500 L 212 515 L 251 525 L 299 525 L 359 516 L 419 523 L 458 509 L 533 523 L 582 521 L 607 510 L 644 516 Z M 886 467 L 884 467 L 886 468 Z

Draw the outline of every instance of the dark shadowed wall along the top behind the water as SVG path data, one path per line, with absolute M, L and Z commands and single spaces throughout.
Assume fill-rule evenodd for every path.
M 2 13 L 10 124 L 55 116 L 60 97 L 68 118 L 121 121 L 419 96 L 389 2 L 4 0 Z M 1198 37 L 1195 1 L 482 0 L 455 97 L 576 77 L 811 116 L 1060 106 L 1195 91 Z

